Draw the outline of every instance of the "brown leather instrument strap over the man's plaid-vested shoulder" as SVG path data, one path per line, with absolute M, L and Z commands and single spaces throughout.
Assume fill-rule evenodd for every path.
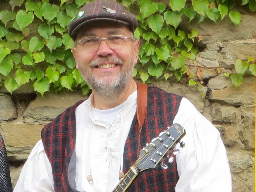
M 145 120 L 145 113 L 148 101 L 148 87 L 146 84 L 137 84 L 137 120 L 139 123 L 139 132 L 142 129 Z

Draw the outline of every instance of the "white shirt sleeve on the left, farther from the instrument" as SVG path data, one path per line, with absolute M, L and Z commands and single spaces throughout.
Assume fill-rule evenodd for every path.
M 20 173 L 14 192 L 53 192 L 51 163 L 42 140 L 32 149 Z

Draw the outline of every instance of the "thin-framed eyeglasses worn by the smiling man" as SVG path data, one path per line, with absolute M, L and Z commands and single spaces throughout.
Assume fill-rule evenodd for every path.
M 125 46 L 126 40 L 128 39 L 132 40 L 132 38 L 125 37 L 123 35 L 110 35 L 107 38 L 84 37 L 77 41 L 77 44 L 79 44 L 86 51 L 95 51 L 98 49 L 100 41 L 106 40 L 111 49 L 121 49 Z

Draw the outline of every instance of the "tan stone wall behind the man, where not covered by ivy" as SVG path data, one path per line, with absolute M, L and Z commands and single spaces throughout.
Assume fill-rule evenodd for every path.
M 204 37 L 200 45 L 203 51 L 196 58 L 198 65 L 233 67 L 237 58 L 244 60 L 247 55 L 255 58 L 255 14 L 239 11 L 242 12 L 242 22 L 238 27 L 227 16 L 217 24 L 210 20 L 200 24 L 188 23 L 186 18 L 182 20 L 181 27 L 185 30 L 195 27 Z M 196 71 L 196 68 L 191 69 Z M 182 82 L 159 80 L 150 85 L 183 95 L 194 103 L 220 131 L 232 172 L 233 192 L 254 191 L 255 76 L 245 75 L 243 85 L 235 90 L 230 79 L 222 73 L 202 68 L 202 74 L 206 100 L 201 98 L 200 92 Z M 10 160 L 13 186 L 24 161 L 40 139 L 44 125 L 83 99 L 86 97 L 80 92 L 70 91 L 47 92 L 42 98 L 29 83 L 13 92 L 12 96 L 0 88 L 0 133 Z

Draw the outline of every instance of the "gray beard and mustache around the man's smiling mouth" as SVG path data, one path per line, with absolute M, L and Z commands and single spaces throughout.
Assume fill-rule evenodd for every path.
M 113 63 L 118 63 L 123 66 L 123 61 L 117 58 L 99 58 L 96 61 L 90 63 L 90 67 L 93 68 L 97 66 L 98 63 L 103 61 L 111 61 Z M 101 98 L 106 100 L 115 100 L 124 92 L 129 80 L 132 76 L 134 64 L 130 64 L 131 67 L 126 68 L 124 71 L 120 71 L 116 79 L 112 78 L 100 78 L 98 79 L 91 71 L 80 71 L 84 80 L 91 85 L 93 91 L 95 91 Z M 84 72 L 84 73 L 83 73 Z M 101 74 L 101 76 L 110 76 L 110 72 Z

